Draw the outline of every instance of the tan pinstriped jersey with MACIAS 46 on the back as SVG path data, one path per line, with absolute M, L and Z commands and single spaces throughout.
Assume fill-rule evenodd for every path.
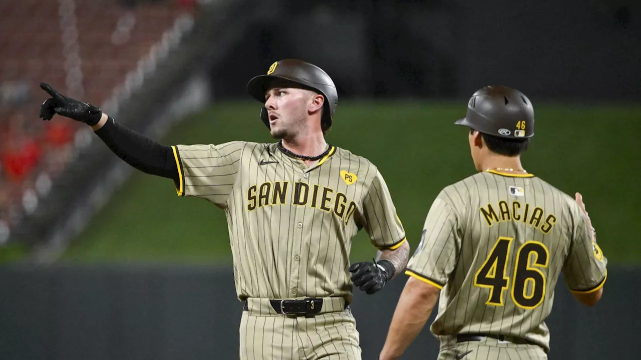
M 442 289 L 435 335 L 503 334 L 549 349 L 560 273 L 570 290 L 596 291 L 606 263 L 574 199 L 531 174 L 487 171 L 438 195 L 406 274 Z

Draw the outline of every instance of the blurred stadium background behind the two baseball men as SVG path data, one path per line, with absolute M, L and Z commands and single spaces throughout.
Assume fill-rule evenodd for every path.
M 469 96 L 528 95 L 524 165 L 583 193 L 612 269 L 594 309 L 560 286 L 550 358 L 634 357 L 622 345 L 641 330 L 637 3 L 3 0 L 0 13 L 0 359 L 238 357 L 224 213 L 134 172 L 88 127 L 42 122 L 38 83 L 168 145 L 271 142 L 245 85 L 281 58 L 337 83 L 328 142 L 378 165 L 412 249 L 435 195 L 474 172 L 452 125 Z M 374 252 L 359 234 L 351 258 Z M 363 358 L 403 284 L 356 294 Z M 426 329 L 406 358 L 436 349 Z

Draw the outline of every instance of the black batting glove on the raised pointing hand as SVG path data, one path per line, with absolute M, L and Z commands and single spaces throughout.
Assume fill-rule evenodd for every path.
M 103 111 L 97 106 L 66 97 L 46 83 L 40 83 L 40 88 L 51 95 L 40 106 L 40 117 L 44 120 L 51 120 L 58 114 L 94 126 L 103 116 Z

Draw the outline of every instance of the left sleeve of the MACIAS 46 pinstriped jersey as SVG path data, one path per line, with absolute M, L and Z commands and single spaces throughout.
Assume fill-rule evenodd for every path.
M 429 208 L 419 246 L 405 274 L 442 289 L 456 266 L 461 249 L 458 223 L 453 206 L 437 197 Z

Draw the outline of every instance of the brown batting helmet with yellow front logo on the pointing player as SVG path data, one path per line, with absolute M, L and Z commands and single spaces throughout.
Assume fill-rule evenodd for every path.
M 316 65 L 296 59 L 279 60 L 272 63 L 266 75 L 259 75 L 249 80 L 247 92 L 254 99 L 265 104 L 265 93 L 274 79 L 285 79 L 296 83 L 301 88 L 313 90 L 325 97 L 320 127 L 327 131 L 331 127 L 331 119 L 336 112 L 338 93 L 334 81 Z M 260 119 L 269 127 L 269 116 L 264 107 L 260 111 Z

